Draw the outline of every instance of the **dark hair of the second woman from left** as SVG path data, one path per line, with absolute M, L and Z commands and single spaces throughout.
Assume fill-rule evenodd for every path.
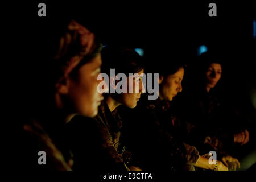
M 118 73 L 138 73 L 143 69 L 141 56 L 133 49 L 106 46 L 102 49 L 102 73 L 110 75 L 110 69 L 115 69 L 115 75 Z

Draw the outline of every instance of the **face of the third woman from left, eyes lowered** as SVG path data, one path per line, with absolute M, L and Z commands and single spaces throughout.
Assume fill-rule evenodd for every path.
M 182 91 L 181 81 L 183 80 L 183 76 L 184 68 L 180 68 L 173 75 L 168 75 L 167 77 L 160 78 L 160 98 L 172 101 L 172 98 L 174 98 L 177 95 L 177 93 Z

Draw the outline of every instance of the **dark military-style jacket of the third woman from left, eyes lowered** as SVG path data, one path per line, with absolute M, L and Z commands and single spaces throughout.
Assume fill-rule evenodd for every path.
M 184 170 L 195 164 L 199 152 L 172 135 L 168 101 L 142 98 L 135 109 L 122 109 L 125 143 L 139 167 L 151 170 Z

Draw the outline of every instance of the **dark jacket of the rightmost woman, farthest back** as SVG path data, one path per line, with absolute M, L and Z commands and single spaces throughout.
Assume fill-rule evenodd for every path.
M 228 148 L 234 145 L 234 133 L 244 129 L 232 106 L 218 94 L 204 89 L 184 94 L 182 100 L 177 115 L 183 124 L 190 126 L 186 142 L 196 146 L 202 155 L 211 150 L 221 156 L 228 154 Z

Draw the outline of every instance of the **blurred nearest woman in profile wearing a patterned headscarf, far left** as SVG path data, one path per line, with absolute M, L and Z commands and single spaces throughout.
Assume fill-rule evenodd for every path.
M 72 155 L 62 150 L 61 128 L 75 114 L 94 117 L 103 99 L 97 92 L 101 43 L 75 20 L 56 24 L 44 32 L 38 49 L 37 61 L 43 64 L 34 85 L 34 112 L 23 125 L 22 169 L 71 170 Z

